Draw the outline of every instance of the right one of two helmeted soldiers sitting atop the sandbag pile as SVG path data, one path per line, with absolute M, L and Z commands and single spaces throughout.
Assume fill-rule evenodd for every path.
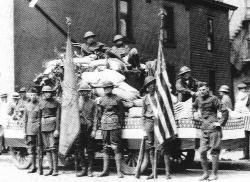
M 116 35 L 113 39 L 115 44 L 110 53 L 115 54 L 120 59 L 123 59 L 127 64 L 130 64 L 132 68 L 140 68 L 139 54 L 136 48 L 130 48 L 124 44 L 124 37 L 122 35 Z

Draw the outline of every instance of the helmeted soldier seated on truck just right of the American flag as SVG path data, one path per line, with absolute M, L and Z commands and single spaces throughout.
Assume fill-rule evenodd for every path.
M 179 79 L 176 81 L 176 91 L 178 100 L 185 102 L 186 100 L 197 95 L 199 81 L 191 76 L 191 69 L 187 66 L 181 67 L 179 71 Z

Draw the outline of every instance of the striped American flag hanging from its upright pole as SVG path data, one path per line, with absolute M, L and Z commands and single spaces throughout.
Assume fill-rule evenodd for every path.
M 171 84 L 166 71 L 162 38 L 159 40 L 158 59 L 156 65 L 156 109 L 158 119 L 154 131 L 160 144 L 177 134 L 174 107 L 171 98 Z

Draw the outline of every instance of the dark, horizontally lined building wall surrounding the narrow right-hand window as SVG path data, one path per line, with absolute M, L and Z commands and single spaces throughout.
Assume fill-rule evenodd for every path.
M 207 17 L 214 21 L 214 50 L 207 51 Z M 209 81 L 209 70 L 215 70 L 216 91 L 221 85 L 231 85 L 229 61 L 228 12 L 193 5 L 190 9 L 191 68 L 194 77 Z

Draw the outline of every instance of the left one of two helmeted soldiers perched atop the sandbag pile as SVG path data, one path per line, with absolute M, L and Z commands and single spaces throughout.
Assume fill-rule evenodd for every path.
M 108 47 L 101 42 L 97 42 L 95 37 L 96 34 L 91 31 L 88 31 L 84 34 L 83 38 L 86 42 L 81 44 L 81 54 L 83 56 L 96 54 L 99 58 L 104 58 Z

